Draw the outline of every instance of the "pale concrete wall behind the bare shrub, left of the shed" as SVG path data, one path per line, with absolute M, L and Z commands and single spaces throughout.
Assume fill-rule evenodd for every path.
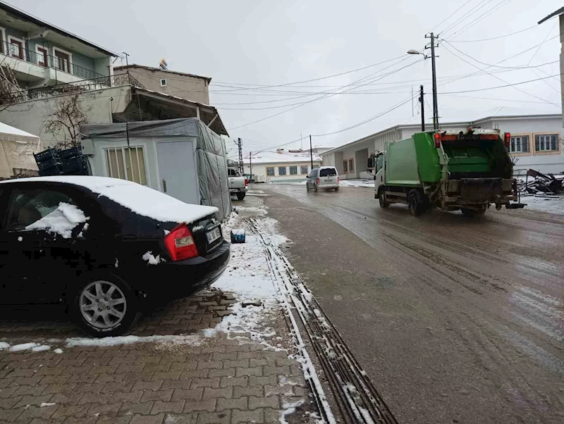
M 130 87 L 113 87 L 80 94 L 80 103 L 88 117 L 88 123 L 111 123 L 111 113 L 123 112 L 129 103 L 130 91 Z M 51 111 L 56 110 L 57 101 L 61 97 L 63 96 L 8 106 L 4 111 L 0 111 L 0 122 L 38 135 L 45 148 L 53 146 L 63 139 L 68 139 L 64 132 L 53 135 L 45 132 L 43 127 Z

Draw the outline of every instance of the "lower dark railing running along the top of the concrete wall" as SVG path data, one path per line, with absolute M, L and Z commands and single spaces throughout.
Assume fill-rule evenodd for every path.
M 111 75 L 94 78 L 92 80 L 81 80 L 69 82 L 68 84 L 57 84 L 49 87 L 22 90 L 21 92 L 0 93 L 0 104 L 15 104 L 22 101 L 46 99 L 47 97 L 59 96 L 61 94 L 75 94 L 108 87 L 120 87 L 133 85 L 133 87 L 145 88 L 134 77 L 128 74 Z

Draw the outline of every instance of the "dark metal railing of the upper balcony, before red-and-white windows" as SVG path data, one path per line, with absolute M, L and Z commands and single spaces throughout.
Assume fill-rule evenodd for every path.
M 68 58 L 64 58 L 62 54 L 61 56 L 51 56 L 47 54 L 47 49 L 43 50 L 41 46 L 38 47 L 41 49 L 40 51 L 32 51 L 25 49 L 19 42 L 1 42 L 0 53 L 19 59 L 20 61 L 35 63 L 37 66 L 54 68 L 59 72 L 75 75 L 82 80 L 94 80 L 99 77 L 104 77 L 104 75 L 94 72 L 93 70 L 75 65 L 75 63 L 69 61 Z

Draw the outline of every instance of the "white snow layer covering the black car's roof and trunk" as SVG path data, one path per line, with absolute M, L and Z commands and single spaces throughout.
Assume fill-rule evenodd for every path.
M 63 182 L 80 185 L 91 192 L 107 197 L 121 204 L 125 208 L 162 222 L 193 223 L 200 218 L 216 213 L 215 206 L 200 206 L 186 204 L 183 201 L 168 196 L 144 185 L 128 180 L 109 177 L 92 177 L 87 175 L 60 177 L 32 177 L 18 180 L 4 180 L 0 184 L 9 182 Z

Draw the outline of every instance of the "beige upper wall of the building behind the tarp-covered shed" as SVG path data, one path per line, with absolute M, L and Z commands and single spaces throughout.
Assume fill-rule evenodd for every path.
M 115 75 L 124 74 L 125 70 L 114 70 Z M 209 104 L 209 87 L 203 78 L 179 75 L 162 70 L 129 68 L 129 74 L 145 88 L 154 92 L 170 94 L 198 103 Z M 161 79 L 166 79 L 166 86 L 161 87 Z

